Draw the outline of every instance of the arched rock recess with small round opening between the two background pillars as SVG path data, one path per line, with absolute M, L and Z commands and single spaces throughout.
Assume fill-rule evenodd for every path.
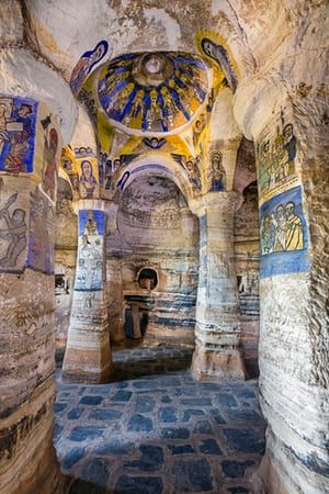
M 106 239 L 106 260 L 107 272 L 114 265 L 121 270 L 120 307 L 113 306 L 111 285 L 107 293 L 128 337 L 149 345 L 194 345 L 198 222 L 172 181 L 140 176 L 124 190 L 117 231 Z

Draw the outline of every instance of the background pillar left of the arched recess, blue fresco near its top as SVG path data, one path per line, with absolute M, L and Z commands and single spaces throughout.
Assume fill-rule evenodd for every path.
M 63 379 L 106 382 L 112 372 L 105 292 L 106 203 L 77 203 L 79 215 L 75 292 L 63 362 Z

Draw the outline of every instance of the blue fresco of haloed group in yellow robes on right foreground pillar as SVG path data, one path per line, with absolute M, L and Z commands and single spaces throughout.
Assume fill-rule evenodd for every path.
M 308 269 L 302 188 L 275 195 L 260 207 L 261 277 Z

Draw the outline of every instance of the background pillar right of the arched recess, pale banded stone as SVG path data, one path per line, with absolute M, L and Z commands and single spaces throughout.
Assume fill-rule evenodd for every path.
M 234 192 L 211 192 L 190 206 L 200 217 L 195 351 L 197 379 L 242 380 L 234 260 Z

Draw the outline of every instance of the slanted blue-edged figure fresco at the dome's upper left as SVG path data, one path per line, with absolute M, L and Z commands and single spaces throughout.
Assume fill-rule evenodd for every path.
M 70 88 L 73 94 L 78 94 L 89 74 L 94 66 L 101 61 L 109 52 L 109 43 L 104 40 L 100 41 L 93 49 L 83 53 L 78 64 L 73 68 L 70 78 Z

